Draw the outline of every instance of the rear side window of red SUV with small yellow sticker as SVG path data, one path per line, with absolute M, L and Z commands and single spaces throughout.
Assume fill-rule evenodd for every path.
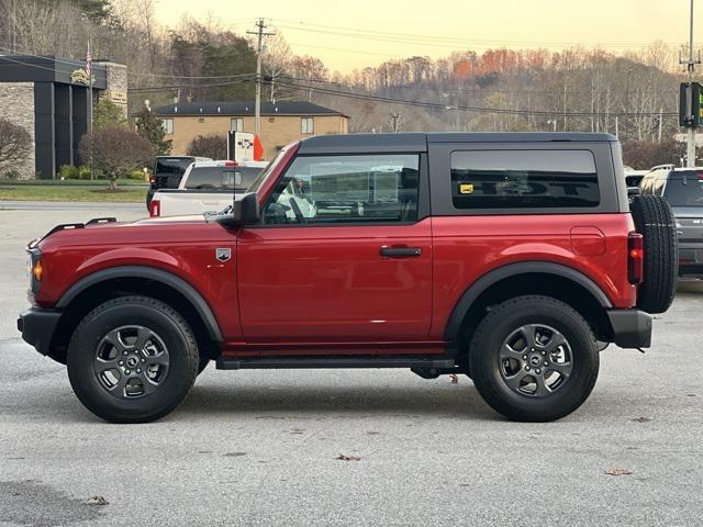
M 589 150 L 471 150 L 451 153 L 456 209 L 598 206 Z

